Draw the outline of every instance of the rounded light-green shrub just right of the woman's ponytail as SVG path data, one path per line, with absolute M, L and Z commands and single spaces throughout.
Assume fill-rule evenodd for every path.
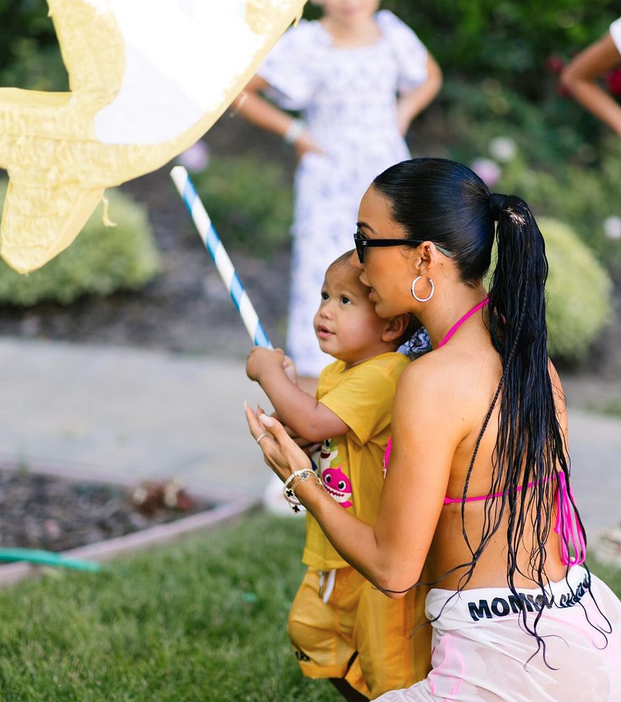
M 546 285 L 550 356 L 579 362 L 610 321 L 612 282 L 570 226 L 550 217 L 540 217 L 538 224 L 550 265 Z

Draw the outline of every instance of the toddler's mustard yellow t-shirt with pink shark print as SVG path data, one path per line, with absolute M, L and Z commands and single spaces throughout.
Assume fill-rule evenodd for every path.
M 335 361 L 319 376 L 317 400 L 347 424 L 349 432 L 323 442 L 311 456 L 313 466 L 327 492 L 367 524 L 376 521 L 395 389 L 409 362 L 407 356 L 390 352 L 349 369 Z M 310 514 L 302 561 L 317 570 L 347 565 Z

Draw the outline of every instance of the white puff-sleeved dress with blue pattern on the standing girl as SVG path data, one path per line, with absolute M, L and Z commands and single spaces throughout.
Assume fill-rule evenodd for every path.
M 302 21 L 270 52 L 259 75 L 284 109 L 300 110 L 313 142 L 295 178 L 291 301 L 287 347 L 298 374 L 318 376 L 332 362 L 320 351 L 313 316 L 325 270 L 353 248 L 358 207 L 371 180 L 410 158 L 397 128 L 397 93 L 427 78 L 427 52 L 393 13 L 380 11 L 381 38 L 336 48 L 320 22 Z

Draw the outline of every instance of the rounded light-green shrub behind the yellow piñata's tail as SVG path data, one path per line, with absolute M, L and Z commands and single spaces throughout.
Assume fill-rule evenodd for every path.
M 6 182 L 0 182 L 0 207 Z M 101 206 L 76 241 L 40 270 L 19 275 L 0 262 L 0 304 L 30 306 L 42 301 L 71 304 L 81 295 L 137 290 L 159 270 L 159 255 L 144 207 L 112 191 L 104 226 Z

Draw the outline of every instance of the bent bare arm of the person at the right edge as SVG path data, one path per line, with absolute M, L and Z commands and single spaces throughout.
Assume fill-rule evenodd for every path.
M 562 71 L 561 82 L 574 98 L 621 135 L 621 106 L 596 80 L 621 64 L 621 56 L 610 33 L 580 52 Z

